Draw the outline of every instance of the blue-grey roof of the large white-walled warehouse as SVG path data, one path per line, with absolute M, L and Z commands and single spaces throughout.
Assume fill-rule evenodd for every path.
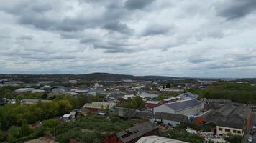
M 180 110 L 188 109 L 191 107 L 201 106 L 201 102 L 199 102 L 196 99 L 189 99 L 189 100 L 182 100 L 182 101 L 178 101 L 178 102 L 171 102 L 171 103 L 167 103 L 164 105 L 175 110 L 175 111 L 180 111 Z

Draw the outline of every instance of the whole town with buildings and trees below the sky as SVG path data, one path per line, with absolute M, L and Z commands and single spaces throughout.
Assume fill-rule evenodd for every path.
M 0 142 L 255 142 L 256 79 L 0 75 Z

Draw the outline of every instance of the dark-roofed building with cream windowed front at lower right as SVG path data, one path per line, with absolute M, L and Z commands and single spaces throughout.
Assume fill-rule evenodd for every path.
M 243 135 L 252 122 L 252 110 L 246 104 L 229 103 L 214 110 L 206 124 L 215 127 L 217 135 Z

